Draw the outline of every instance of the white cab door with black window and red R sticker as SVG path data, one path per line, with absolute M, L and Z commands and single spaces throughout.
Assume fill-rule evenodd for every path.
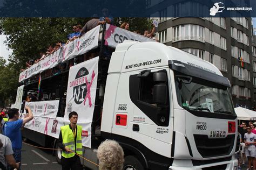
M 122 73 L 112 133 L 136 140 L 170 158 L 173 124 L 170 96 L 170 75 L 166 69 Z

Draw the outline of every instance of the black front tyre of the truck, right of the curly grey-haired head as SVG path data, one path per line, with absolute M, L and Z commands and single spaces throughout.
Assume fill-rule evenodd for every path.
M 139 160 L 136 157 L 129 155 L 124 158 L 123 170 L 130 170 L 130 169 L 143 170 L 144 167 L 142 166 L 142 164 L 140 164 Z

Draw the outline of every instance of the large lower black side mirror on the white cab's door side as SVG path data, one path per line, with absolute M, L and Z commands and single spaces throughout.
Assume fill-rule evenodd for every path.
M 156 84 L 153 88 L 153 102 L 157 104 L 166 104 L 167 87 L 166 84 Z

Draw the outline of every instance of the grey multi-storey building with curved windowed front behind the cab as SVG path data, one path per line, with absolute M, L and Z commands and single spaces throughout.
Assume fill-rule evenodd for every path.
M 160 42 L 211 62 L 230 80 L 234 107 L 253 109 L 256 44 L 252 46 L 251 18 L 154 19 L 160 21 Z

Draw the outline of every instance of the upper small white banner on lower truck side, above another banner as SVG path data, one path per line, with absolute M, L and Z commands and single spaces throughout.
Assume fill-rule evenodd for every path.
M 41 101 L 41 102 L 26 102 L 25 107 L 29 105 L 34 116 L 56 118 L 59 108 L 59 100 L 56 101 Z

